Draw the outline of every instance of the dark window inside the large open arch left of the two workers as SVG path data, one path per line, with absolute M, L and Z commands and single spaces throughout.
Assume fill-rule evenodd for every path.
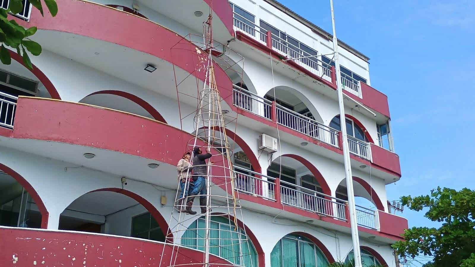
M 150 212 L 132 218 L 132 231 L 130 236 L 165 242 L 165 235 Z

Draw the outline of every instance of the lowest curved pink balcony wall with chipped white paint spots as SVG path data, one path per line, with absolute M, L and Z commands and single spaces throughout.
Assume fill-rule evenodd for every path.
M 203 252 L 133 238 L 70 231 L 0 228 L 0 266 L 201 266 Z M 162 256 L 163 253 L 163 257 Z M 173 256 L 172 256 L 173 255 Z M 176 256 L 176 257 L 175 257 Z M 175 261 L 176 259 L 176 261 Z M 230 265 L 210 255 L 211 267 Z

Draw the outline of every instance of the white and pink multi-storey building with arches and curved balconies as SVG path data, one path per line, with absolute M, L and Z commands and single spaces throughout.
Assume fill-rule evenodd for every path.
M 38 27 L 33 70 L 14 51 L 0 66 L 0 266 L 168 266 L 176 163 L 204 79 L 196 66 L 206 51 L 186 37 L 202 34 L 209 10 L 213 38 L 235 51 L 215 73 L 237 118 L 227 133 L 253 253 L 232 263 L 352 257 L 332 56 L 284 61 L 332 53 L 328 32 L 275 0 L 57 4 L 55 18 L 11 16 Z M 371 87 L 369 58 L 340 46 L 363 259 L 395 267 L 390 246 L 408 222 L 387 204 L 386 185 L 401 177 L 388 99 Z M 276 152 L 259 149 L 261 134 L 279 140 Z M 199 244 L 182 249 L 179 262 L 202 260 Z M 225 253 L 214 251 L 217 266 Z

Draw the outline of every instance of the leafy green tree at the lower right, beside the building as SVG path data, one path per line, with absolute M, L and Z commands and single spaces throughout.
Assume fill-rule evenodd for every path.
M 413 227 L 393 245 L 399 255 L 433 256 L 428 267 L 475 267 L 475 191 L 438 187 L 427 196 L 401 197 L 411 210 L 428 208 L 424 217 L 443 222 L 439 228 Z

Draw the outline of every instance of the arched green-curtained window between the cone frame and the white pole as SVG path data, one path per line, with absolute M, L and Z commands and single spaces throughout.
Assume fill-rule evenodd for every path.
M 312 241 L 292 234 L 277 242 L 270 257 L 271 267 L 326 267 L 329 264 Z

